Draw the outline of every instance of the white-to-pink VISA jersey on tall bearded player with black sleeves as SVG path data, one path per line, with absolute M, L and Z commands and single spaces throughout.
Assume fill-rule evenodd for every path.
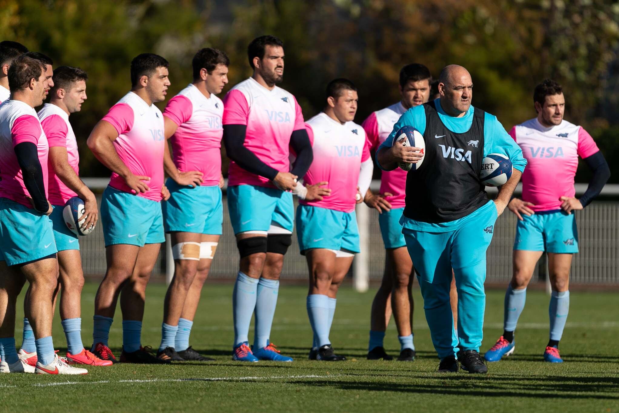
M 233 87 L 223 98 L 224 125 L 246 125 L 245 147 L 258 159 L 280 172 L 290 171 L 290 135 L 305 129 L 301 106 L 292 93 L 275 86 L 268 90 L 253 78 Z M 230 162 L 228 185 L 275 186 L 264 176 Z

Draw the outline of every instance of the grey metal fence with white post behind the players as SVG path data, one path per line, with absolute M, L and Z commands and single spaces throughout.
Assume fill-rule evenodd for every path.
M 107 180 L 87 180 L 90 187 L 100 187 Z M 373 182 L 373 187 L 377 186 Z M 584 191 L 582 185 L 577 190 Z M 607 194 L 619 194 L 617 188 L 609 187 Z M 100 200 L 100 198 L 99 198 Z M 223 197 L 223 236 L 220 239 L 217 255 L 210 270 L 210 278 L 235 278 L 238 271 L 238 251 L 228 217 L 227 198 Z M 364 289 L 363 278 L 380 279 L 384 269 L 384 246 L 378 226 L 378 211 L 370 210 L 365 205 L 357 206 L 359 230 L 361 237 L 367 240 L 367 249 L 355 257 L 352 272 L 361 275 L 360 289 Z M 584 211 L 576 212 L 579 231 L 580 253 L 572 263 L 571 283 L 574 284 L 619 284 L 619 201 L 596 201 Z M 488 249 L 488 283 L 506 283 L 511 278 L 511 252 L 516 234 L 516 217 L 506 210 L 496 221 L 494 235 Z M 80 237 L 84 273 L 103 275 L 106 270 L 105 247 L 102 226 L 87 237 Z M 154 276 L 163 277 L 167 270 L 167 249 L 162 245 Z M 543 263 L 543 262 L 542 262 Z M 543 265 L 538 271 L 544 271 Z M 298 249 L 297 236 L 293 234 L 293 243 L 284 261 L 282 279 L 305 279 L 307 265 L 305 257 Z M 542 277 L 543 278 L 543 277 Z

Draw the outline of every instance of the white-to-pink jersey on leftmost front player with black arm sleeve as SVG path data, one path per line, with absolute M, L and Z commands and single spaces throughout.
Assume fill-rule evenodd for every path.
M 30 193 L 24 185 L 22 168 L 17 161 L 14 147 L 22 142 L 37 145 L 39 162 L 45 182 L 45 197 L 48 196 L 48 153 L 47 137 L 37 111 L 19 100 L 6 100 L 0 104 L 0 197 L 32 208 Z

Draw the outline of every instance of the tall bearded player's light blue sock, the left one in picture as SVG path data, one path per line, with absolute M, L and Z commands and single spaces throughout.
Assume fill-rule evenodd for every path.
M 249 341 L 249 324 L 256 308 L 258 279 L 238 271 L 232 291 L 232 316 L 234 318 L 234 346 Z

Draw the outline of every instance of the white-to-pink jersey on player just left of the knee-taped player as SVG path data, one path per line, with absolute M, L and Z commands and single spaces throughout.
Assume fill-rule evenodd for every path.
M 155 104 L 149 106 L 140 96 L 129 92 L 111 107 L 108 114 L 103 117 L 103 121 L 110 122 L 118 132 L 114 148 L 129 171 L 135 175 L 150 177 L 150 181 L 142 181 L 149 190 L 138 195 L 153 201 L 161 201 L 163 145 L 166 144 L 161 111 Z M 133 193 L 123 177 L 116 172 L 112 172 L 110 186 Z

